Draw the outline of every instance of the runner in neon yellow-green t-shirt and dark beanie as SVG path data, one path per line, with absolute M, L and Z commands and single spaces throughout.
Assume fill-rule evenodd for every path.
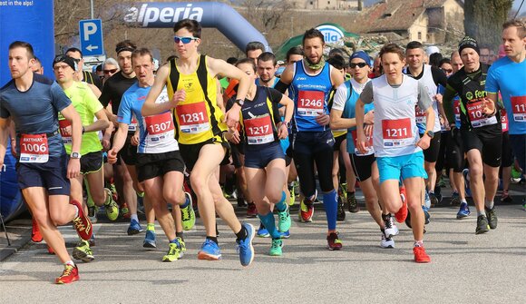
M 102 144 L 97 132 L 106 129 L 112 132 L 108 118 L 102 104 L 86 83 L 74 81 L 76 63 L 72 57 L 58 55 L 53 62 L 54 78 L 62 87 L 66 96 L 72 101 L 73 107 L 81 117 L 83 124 L 83 137 L 81 143 L 81 174 L 70 178 L 71 198 L 83 201 L 83 181 L 86 191 L 89 192 L 95 205 L 104 206 L 106 216 L 110 221 L 117 220 L 119 206 L 112 200 L 112 191 L 104 188 L 104 172 L 102 170 Z M 96 122 L 94 118 L 97 118 Z M 67 154 L 72 153 L 72 126 L 71 123 L 59 114 L 60 133 Z M 84 211 L 88 211 L 83 204 Z M 80 240 L 73 250 L 73 258 L 90 262 L 94 260 L 90 243 Z

